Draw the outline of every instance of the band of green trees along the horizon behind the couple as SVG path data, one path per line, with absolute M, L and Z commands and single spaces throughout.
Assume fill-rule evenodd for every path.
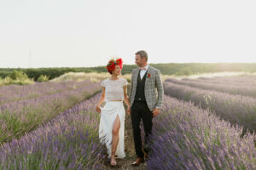
M 223 71 L 245 71 L 255 72 L 256 63 L 167 63 L 167 64 L 149 64 L 161 71 L 163 75 L 183 75 L 189 76 L 193 74 L 213 73 Z M 132 69 L 137 68 L 137 65 L 124 65 L 122 74 L 131 74 Z M 21 68 L 0 68 L 0 77 L 11 77 L 16 71 L 19 71 L 18 77 L 22 73 L 26 73 L 27 77 L 38 80 L 41 75 L 46 75 L 49 80 L 60 77 L 67 72 L 107 72 L 106 65 L 96 67 L 52 67 L 52 68 L 37 68 L 37 69 L 21 69 Z

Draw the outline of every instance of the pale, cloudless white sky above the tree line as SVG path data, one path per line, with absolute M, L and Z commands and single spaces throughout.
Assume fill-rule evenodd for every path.
M 0 67 L 256 62 L 255 0 L 0 0 Z

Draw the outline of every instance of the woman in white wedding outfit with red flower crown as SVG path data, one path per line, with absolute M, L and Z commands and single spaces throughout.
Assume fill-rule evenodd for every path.
M 107 69 L 111 77 L 102 81 L 102 97 L 96 105 L 96 111 L 101 113 L 99 126 L 99 138 L 102 144 L 106 144 L 108 158 L 111 166 L 115 166 L 117 158 L 125 158 L 125 108 L 123 100 L 130 108 L 127 96 L 127 84 L 125 78 L 119 77 L 123 67 L 122 59 L 108 61 Z M 106 102 L 101 107 L 102 102 Z M 130 115 L 130 112 L 127 112 Z

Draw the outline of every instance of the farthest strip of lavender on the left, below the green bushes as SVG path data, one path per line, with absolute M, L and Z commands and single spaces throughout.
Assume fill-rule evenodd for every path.
M 81 88 L 89 85 L 89 80 L 84 82 L 35 82 L 26 86 L 9 85 L 0 87 L 0 105 L 10 102 L 16 102 L 24 99 L 35 99 L 44 95 L 59 94 L 63 91 Z

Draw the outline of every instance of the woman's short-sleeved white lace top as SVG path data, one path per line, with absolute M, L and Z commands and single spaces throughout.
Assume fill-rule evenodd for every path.
M 128 82 L 125 78 L 120 77 L 118 80 L 110 80 L 109 78 L 102 81 L 102 87 L 105 87 L 104 101 L 124 100 L 124 86 Z

